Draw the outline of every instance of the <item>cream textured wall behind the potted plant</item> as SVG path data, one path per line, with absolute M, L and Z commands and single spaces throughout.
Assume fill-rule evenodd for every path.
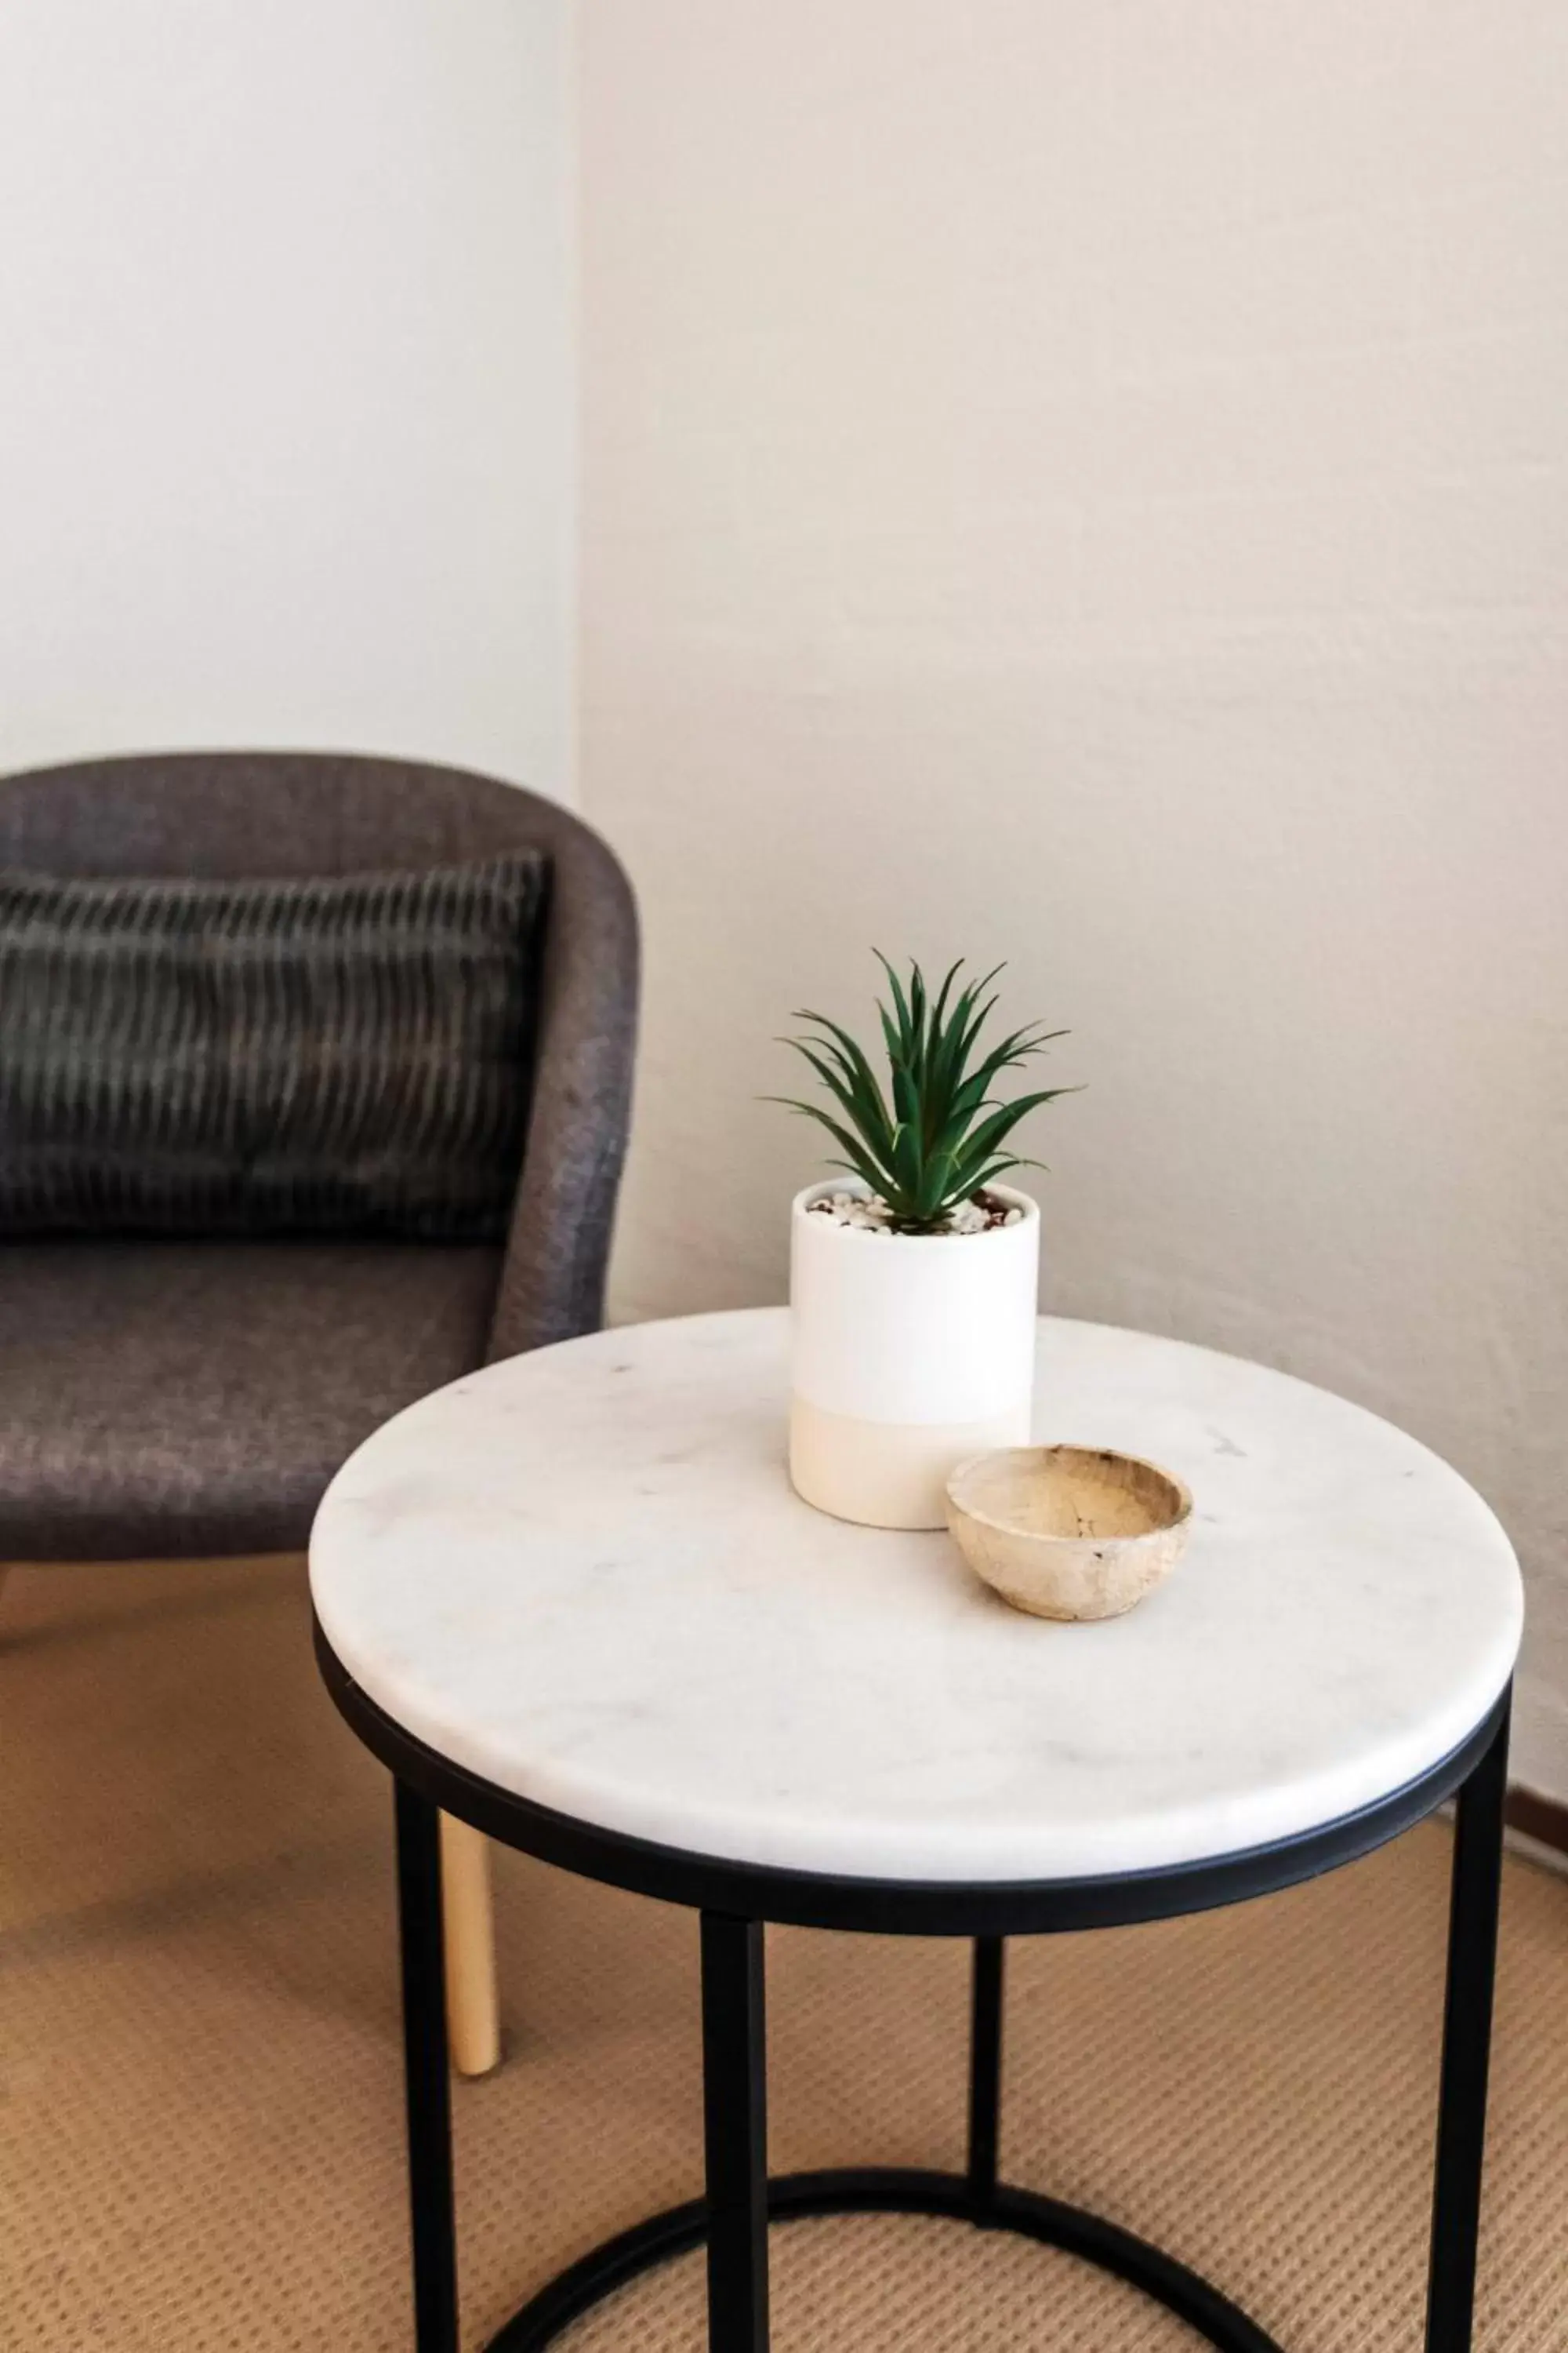
M 1048 1294 L 1516 1532 L 1568 1795 L 1568 9 L 595 0 L 583 800 L 623 1313 L 773 1299 L 867 944 L 1072 1024 Z

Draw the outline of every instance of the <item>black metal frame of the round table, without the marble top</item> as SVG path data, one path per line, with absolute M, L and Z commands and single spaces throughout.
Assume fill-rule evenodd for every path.
M 1128 2280 L 1187 2320 L 1220 2353 L 1281 2353 L 1255 2320 L 1175 2257 L 1098 2214 L 999 2179 L 1004 1939 L 1128 1927 L 1272 1894 L 1371 1854 L 1455 1793 L 1425 2353 L 1472 2353 L 1502 1885 L 1507 1689 L 1441 1765 L 1392 1798 L 1300 1838 L 1164 1871 L 954 1885 L 729 1864 L 550 1812 L 414 1739 L 346 1673 L 320 1626 L 315 1645 L 341 1715 L 395 1779 L 416 2353 L 458 2353 L 442 1812 L 581 1878 L 684 1904 L 701 1913 L 703 1927 L 708 2195 L 654 2214 L 571 2264 L 505 2322 L 489 2353 L 536 2353 L 637 2273 L 703 2240 L 710 2353 L 766 2353 L 769 2221 L 846 2212 L 940 2214 L 985 2231 L 1016 2231 Z M 849 2167 L 769 2179 L 762 1979 L 762 1932 L 769 1920 L 865 1934 L 973 1939 L 969 2165 L 961 2174 Z

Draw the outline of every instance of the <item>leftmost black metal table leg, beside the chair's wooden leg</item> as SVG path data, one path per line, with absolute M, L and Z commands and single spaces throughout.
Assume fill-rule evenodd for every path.
M 402 2071 L 409 2120 L 416 2353 L 458 2353 L 458 2249 L 451 2202 L 451 2082 L 442 1958 L 442 1826 L 428 1798 L 397 1791 Z

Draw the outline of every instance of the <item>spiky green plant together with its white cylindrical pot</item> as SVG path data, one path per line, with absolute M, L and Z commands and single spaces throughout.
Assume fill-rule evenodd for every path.
M 1034 1386 L 1039 1209 L 999 1179 L 1039 1167 L 1009 1151 L 1065 1087 L 997 1101 L 994 1085 L 1065 1031 L 980 1047 L 990 981 L 931 993 L 879 958 L 886 1089 L 823 1014 L 795 1047 L 825 1101 L 788 1101 L 839 1148 L 839 1181 L 797 1193 L 790 1219 L 790 1478 L 839 1520 L 943 1527 L 945 1482 L 969 1454 L 1025 1445 Z

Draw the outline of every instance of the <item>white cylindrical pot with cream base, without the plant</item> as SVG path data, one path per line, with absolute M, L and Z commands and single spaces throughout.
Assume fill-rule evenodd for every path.
M 867 1233 L 790 1217 L 790 1478 L 806 1504 L 867 1527 L 945 1527 L 947 1478 L 1030 1440 L 1039 1209 L 990 1186 L 1016 1226 Z

